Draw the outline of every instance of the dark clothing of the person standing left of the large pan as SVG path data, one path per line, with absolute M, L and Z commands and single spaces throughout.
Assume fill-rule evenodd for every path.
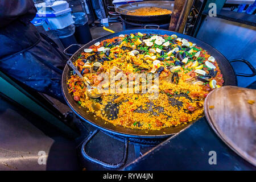
M 30 23 L 32 0 L 0 1 L 0 70 L 30 88 L 63 101 L 64 56 Z

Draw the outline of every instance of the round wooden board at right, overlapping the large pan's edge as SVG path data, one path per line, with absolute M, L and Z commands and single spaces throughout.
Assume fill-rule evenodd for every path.
M 205 98 L 205 117 L 232 150 L 256 166 L 256 90 L 222 86 Z M 210 107 L 214 107 L 210 109 Z

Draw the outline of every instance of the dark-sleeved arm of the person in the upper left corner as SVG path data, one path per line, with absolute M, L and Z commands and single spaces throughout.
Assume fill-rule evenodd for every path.
M 36 8 L 32 0 L 0 0 L 0 27 L 5 27 L 20 16 L 34 18 Z

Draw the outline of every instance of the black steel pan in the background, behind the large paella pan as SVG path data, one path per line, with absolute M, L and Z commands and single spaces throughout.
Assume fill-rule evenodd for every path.
M 118 13 L 122 19 L 137 23 L 156 23 L 156 22 L 170 22 L 171 14 L 166 15 L 152 15 L 152 16 L 135 16 L 127 15 L 127 11 L 139 9 L 142 7 L 160 7 L 162 9 L 174 10 L 174 1 L 145 1 L 135 2 L 126 5 L 115 7 L 115 12 Z M 125 9 L 125 10 L 123 10 Z

